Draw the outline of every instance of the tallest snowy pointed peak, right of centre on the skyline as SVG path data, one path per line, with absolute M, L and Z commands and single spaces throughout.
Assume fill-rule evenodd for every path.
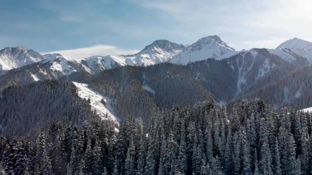
M 204 60 L 207 58 L 224 59 L 237 54 L 235 49 L 229 47 L 217 35 L 199 39 L 186 47 L 182 52 L 172 56 L 171 63 L 187 64 L 188 62 Z

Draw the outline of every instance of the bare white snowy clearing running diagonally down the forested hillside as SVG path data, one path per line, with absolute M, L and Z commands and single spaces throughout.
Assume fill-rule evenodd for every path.
M 112 120 L 118 123 L 118 117 L 116 117 L 113 107 L 111 104 L 111 99 L 102 96 L 97 92 L 88 88 L 88 84 L 73 82 L 78 89 L 78 95 L 81 98 L 90 99 L 90 105 L 92 110 L 96 112 L 103 120 Z M 101 102 L 104 99 L 105 105 Z

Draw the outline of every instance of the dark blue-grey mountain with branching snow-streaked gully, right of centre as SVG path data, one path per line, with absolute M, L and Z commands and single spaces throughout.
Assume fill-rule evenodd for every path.
M 262 77 L 286 65 L 289 63 L 267 49 L 251 49 L 222 60 L 192 62 L 187 67 L 218 102 L 225 103 L 244 93 Z

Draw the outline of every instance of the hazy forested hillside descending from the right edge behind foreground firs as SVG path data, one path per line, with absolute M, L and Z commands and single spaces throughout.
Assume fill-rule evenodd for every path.
M 312 67 L 311 65 L 306 65 L 291 71 L 278 81 L 271 82 L 257 91 L 250 91 L 249 94 L 242 96 L 240 99 L 257 97 L 268 100 L 276 108 L 283 106 L 306 108 L 312 106 L 311 87 Z

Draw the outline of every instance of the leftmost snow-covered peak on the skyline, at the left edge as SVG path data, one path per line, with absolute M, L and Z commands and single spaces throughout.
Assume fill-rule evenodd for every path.
M 4 48 L 0 50 L 0 75 L 14 68 L 45 59 L 44 56 L 24 47 Z

